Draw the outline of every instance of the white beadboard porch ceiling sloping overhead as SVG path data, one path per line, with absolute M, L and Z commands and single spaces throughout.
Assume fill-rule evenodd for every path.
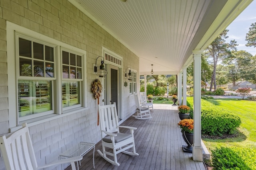
M 140 58 L 140 75 L 178 74 L 252 0 L 69 0 Z

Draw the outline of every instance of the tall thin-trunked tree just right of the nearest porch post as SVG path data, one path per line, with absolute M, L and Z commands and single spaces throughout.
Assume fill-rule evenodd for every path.
M 231 40 L 230 43 L 226 43 L 228 38 L 227 36 L 228 29 L 225 29 L 206 49 L 205 55 L 208 56 L 208 63 L 212 66 L 212 77 L 210 84 L 210 91 L 212 90 L 212 86 L 214 86 L 214 90 L 216 90 L 216 67 L 218 63 L 226 63 L 225 60 L 229 57 L 232 57 L 232 50 L 236 50 L 236 41 Z

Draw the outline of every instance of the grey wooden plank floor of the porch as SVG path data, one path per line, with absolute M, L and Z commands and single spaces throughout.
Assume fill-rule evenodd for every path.
M 96 151 L 102 150 L 101 142 L 95 148 L 96 170 L 206 170 L 203 162 L 193 161 L 191 153 L 182 151 L 186 145 L 182 139 L 177 123 L 177 106 L 168 104 L 154 104 L 152 118 L 139 120 L 128 118 L 122 125 L 137 127 L 134 131 L 136 152 L 139 156 L 119 153 L 118 163 L 114 166 L 104 160 Z M 125 131 L 122 131 L 122 133 Z M 127 131 L 128 132 L 128 131 Z M 93 169 L 92 151 L 84 156 L 80 170 Z M 71 170 L 69 166 L 66 170 Z

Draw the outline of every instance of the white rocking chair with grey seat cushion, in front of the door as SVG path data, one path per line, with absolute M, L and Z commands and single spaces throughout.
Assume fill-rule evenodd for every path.
M 102 156 L 106 161 L 111 164 L 119 166 L 120 164 L 117 162 L 116 155 L 120 152 L 130 155 L 139 155 L 135 151 L 134 144 L 134 129 L 136 127 L 128 127 L 128 126 L 118 126 L 118 116 L 116 111 L 116 103 L 100 106 L 98 105 L 99 118 L 100 118 L 100 129 L 102 135 L 102 150 L 97 150 L 100 156 Z M 120 133 L 119 127 L 130 129 L 130 134 Z M 107 136 L 106 136 L 107 135 Z M 111 148 L 112 152 L 106 151 L 107 148 Z M 127 149 L 132 148 L 132 152 L 126 151 Z M 114 160 L 111 160 L 107 157 L 110 155 L 114 157 Z

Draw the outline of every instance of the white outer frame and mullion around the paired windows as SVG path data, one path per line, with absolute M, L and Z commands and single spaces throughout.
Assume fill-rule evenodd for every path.
M 18 89 L 18 75 L 17 75 L 17 68 L 19 63 L 16 62 L 16 53 L 14 49 L 16 49 L 16 34 L 22 35 L 24 37 L 29 37 L 31 39 L 36 39 L 36 41 L 44 42 L 56 47 L 56 60 L 54 61 L 54 77 L 52 78 L 52 86 L 54 90 L 53 100 L 52 100 L 52 109 L 54 109 L 54 113 L 50 115 L 44 116 L 36 116 L 36 117 L 29 117 L 26 122 L 31 123 L 31 125 L 37 125 L 39 123 L 44 123 L 46 121 L 50 121 L 53 119 L 57 119 L 59 117 L 64 116 L 62 113 L 66 113 L 66 115 L 77 113 L 78 111 L 82 111 L 84 109 L 88 109 L 87 107 L 87 98 L 86 98 L 86 51 L 82 49 L 78 49 L 71 45 L 68 45 L 64 42 L 58 41 L 56 39 L 50 38 L 46 35 L 42 35 L 36 31 L 32 31 L 10 21 L 6 21 L 6 38 L 7 38 L 7 66 L 8 66 L 8 111 L 9 111 L 9 127 L 10 132 L 15 131 L 18 129 L 17 127 L 21 125 L 23 119 L 20 119 L 18 116 L 18 97 L 17 97 L 17 89 Z M 29 39 L 28 39 L 29 40 Z M 52 47 L 51 46 L 51 47 Z M 62 70 L 61 70 L 61 53 L 60 49 L 65 48 L 69 51 L 73 51 L 74 53 L 82 56 L 82 79 L 81 86 L 80 86 L 80 96 L 81 105 L 77 108 L 70 108 L 69 110 L 63 111 L 62 109 Z M 39 78 L 39 80 L 42 80 Z M 15 101 L 15 107 L 14 107 Z M 36 113 L 38 114 L 38 113 Z M 36 115 L 35 114 L 35 115 Z M 59 116 L 58 116 L 59 115 Z

